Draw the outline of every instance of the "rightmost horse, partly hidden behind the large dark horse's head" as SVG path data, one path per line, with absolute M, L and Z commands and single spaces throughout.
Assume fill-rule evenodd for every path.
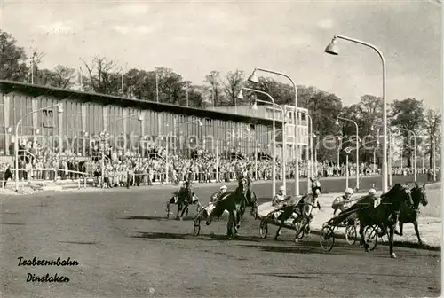
M 420 186 L 415 183 L 415 187 L 413 187 L 410 192 L 412 193 L 413 206 L 410 207 L 405 203 L 400 206 L 400 231 L 394 231 L 394 233 L 402 236 L 402 227 L 404 223 L 413 223 L 418 243 L 419 245 L 423 245 L 423 241 L 421 240 L 421 237 L 419 237 L 417 218 L 419 216 L 419 204 L 422 204 L 424 207 L 428 204 L 427 195 L 425 193 L 425 184 Z

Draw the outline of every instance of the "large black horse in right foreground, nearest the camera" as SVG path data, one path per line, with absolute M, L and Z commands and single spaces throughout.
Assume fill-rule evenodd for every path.
M 360 236 L 365 251 L 369 252 L 369 245 L 364 238 L 364 229 L 368 226 L 377 225 L 380 229 L 380 232 L 378 232 L 379 237 L 384 236 L 388 228 L 390 256 L 396 258 L 396 254 L 393 252 L 394 229 L 396 223 L 398 223 L 400 209 L 406 203 L 408 206 L 413 205 L 410 190 L 406 185 L 395 184 L 389 192 L 381 195 L 380 203 L 377 207 L 375 207 L 374 198 L 371 196 L 365 196 L 353 205 L 353 207 L 360 206 L 357 208 L 356 214 L 360 221 Z

